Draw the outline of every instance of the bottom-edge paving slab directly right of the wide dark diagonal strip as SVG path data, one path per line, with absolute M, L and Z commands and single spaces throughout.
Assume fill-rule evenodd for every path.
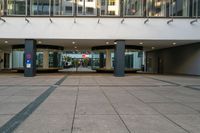
M 72 116 L 33 114 L 14 133 L 71 133 Z

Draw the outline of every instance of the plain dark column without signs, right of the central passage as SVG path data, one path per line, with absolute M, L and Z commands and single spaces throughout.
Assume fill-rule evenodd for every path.
M 114 62 L 114 75 L 116 77 L 123 77 L 125 71 L 125 41 L 115 41 L 115 62 Z

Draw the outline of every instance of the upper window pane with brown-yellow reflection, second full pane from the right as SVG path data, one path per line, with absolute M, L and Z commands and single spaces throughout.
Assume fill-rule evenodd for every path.
M 166 15 L 166 0 L 147 0 L 147 15 L 164 17 Z

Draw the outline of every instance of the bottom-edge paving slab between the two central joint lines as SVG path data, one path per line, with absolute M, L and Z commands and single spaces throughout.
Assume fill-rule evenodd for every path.
M 76 115 L 73 133 L 128 133 L 117 115 Z

